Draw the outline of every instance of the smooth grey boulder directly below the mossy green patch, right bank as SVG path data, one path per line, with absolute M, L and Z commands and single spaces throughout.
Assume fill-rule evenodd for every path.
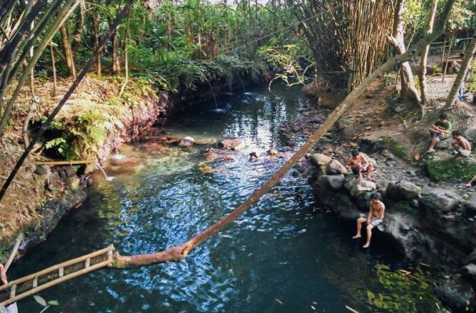
M 420 203 L 428 209 L 451 212 L 460 203 L 460 196 L 449 188 L 425 188 Z

